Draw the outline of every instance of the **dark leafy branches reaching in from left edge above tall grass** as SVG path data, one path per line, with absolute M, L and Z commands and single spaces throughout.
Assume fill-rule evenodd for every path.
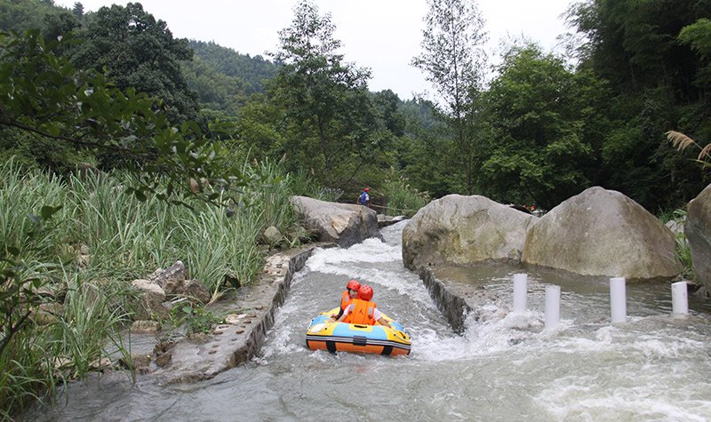
M 0 32 L 0 129 L 49 140 L 57 148 L 123 156 L 138 177 L 127 190 L 139 199 L 152 192 L 182 203 L 173 195 L 180 192 L 214 201 L 221 188 L 251 183 L 221 160 L 227 152 L 204 138 L 195 122 L 174 127 L 154 111 L 155 99 L 132 88 L 123 92 L 93 69 L 77 70 L 54 55 L 73 42 L 66 34 L 45 44 L 38 29 L 24 36 Z

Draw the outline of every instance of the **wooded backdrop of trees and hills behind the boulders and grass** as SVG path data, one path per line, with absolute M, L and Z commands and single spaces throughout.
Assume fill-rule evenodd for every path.
M 120 89 L 162 100 L 172 122 L 195 121 L 208 132 L 214 118 L 234 122 L 227 135 L 210 136 L 240 154 L 309 171 L 334 192 L 352 195 L 363 185 L 385 190 L 387 180 L 402 180 L 433 197 L 481 194 L 549 209 L 599 185 L 658 211 L 683 206 L 709 181 L 691 161 L 691 148 L 677 151 L 666 136 L 681 131 L 703 147 L 711 134 L 707 0 L 572 5 L 567 19 L 586 40 L 571 45 L 579 52 L 577 66 L 519 41 L 508 45 L 489 80 L 481 78 L 484 61 L 475 41 L 483 28 L 468 20 L 471 36 L 449 40 L 464 41 L 457 44 L 464 49 L 438 51 L 432 44 L 419 57 L 424 72 L 440 66 L 438 60 L 449 70 L 456 67 L 447 60 L 468 63 L 459 74 L 431 75 L 440 88 L 459 86 L 459 97 L 441 103 L 369 92 L 370 69 L 342 57 L 340 41 L 332 36 L 335 26 L 311 4 L 295 25 L 308 16 L 314 26 L 294 26 L 292 36 L 324 43 L 314 60 L 300 56 L 286 38 L 269 58 L 173 39 L 170 22 L 154 20 L 140 4 L 84 13 L 78 3 L 66 10 L 51 0 L 0 0 L 0 8 L 3 29 L 42 28 L 50 39 L 73 30 L 84 44 L 64 47 L 61 54 L 78 68 L 105 68 Z M 121 44 L 110 34 L 120 33 L 127 19 L 146 22 L 148 29 L 126 38 L 131 44 L 124 52 L 130 54 L 116 60 Z M 153 54 L 144 48 L 149 40 L 161 40 L 163 50 L 155 53 L 170 52 L 170 59 L 158 60 L 157 67 L 141 65 L 146 51 Z M 310 80 L 301 78 L 304 72 Z M 329 113 L 316 108 L 324 105 Z M 27 147 L 21 137 L 3 142 L 5 151 L 54 170 L 78 160 L 66 157 L 84 155 L 67 150 L 60 159 L 51 148 Z M 96 163 L 116 164 L 107 155 Z

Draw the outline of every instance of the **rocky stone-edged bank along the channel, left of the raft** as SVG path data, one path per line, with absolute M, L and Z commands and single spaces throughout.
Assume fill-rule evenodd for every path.
M 268 257 L 255 283 L 240 288 L 234 299 L 220 300 L 208 308 L 228 322 L 217 325 L 212 333 L 183 337 L 169 344 L 161 344 L 156 334 L 132 334 L 132 365 L 137 376 L 157 378 L 164 384 L 195 382 L 213 378 L 260 354 L 293 275 L 314 249 L 333 246 L 314 243 Z

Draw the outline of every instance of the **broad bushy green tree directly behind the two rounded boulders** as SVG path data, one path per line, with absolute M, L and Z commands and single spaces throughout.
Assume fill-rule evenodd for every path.
M 535 44 L 513 46 L 486 93 L 490 139 L 480 188 L 501 202 L 551 209 L 598 179 L 605 85 Z

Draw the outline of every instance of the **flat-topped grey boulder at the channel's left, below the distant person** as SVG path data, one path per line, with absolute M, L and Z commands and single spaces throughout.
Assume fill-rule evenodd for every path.
M 368 207 L 329 203 L 308 196 L 292 196 L 290 200 L 304 227 L 319 230 L 320 242 L 348 247 L 368 237 L 380 237 L 377 213 Z

